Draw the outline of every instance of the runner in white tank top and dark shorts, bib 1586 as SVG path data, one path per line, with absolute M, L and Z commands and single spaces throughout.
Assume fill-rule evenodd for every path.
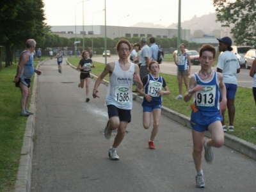
M 106 125 L 104 135 L 106 139 L 111 138 L 112 131 L 118 129 L 114 143 L 109 149 L 109 158 L 118 160 L 116 148 L 125 136 L 126 127 L 131 122 L 132 109 L 132 81 L 136 82 L 137 88 L 142 89 L 143 84 L 140 79 L 140 69 L 137 64 L 131 63 L 129 55 L 131 44 L 129 41 L 121 39 L 116 44 L 116 52 L 119 60 L 108 63 L 102 74 L 95 82 L 93 88 L 93 98 L 99 97 L 98 87 L 109 74 L 109 86 L 106 96 L 106 106 L 108 106 L 109 120 Z

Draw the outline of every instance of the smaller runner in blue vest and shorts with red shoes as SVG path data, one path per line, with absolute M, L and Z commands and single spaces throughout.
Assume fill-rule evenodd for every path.
M 148 147 L 155 149 L 154 139 L 158 132 L 159 122 L 161 118 L 162 109 L 162 95 L 169 95 L 169 88 L 163 77 L 159 76 L 159 63 L 157 61 L 151 61 L 148 65 L 150 74 L 143 77 L 143 90 L 138 87 L 136 90 L 144 96 L 143 106 L 143 127 L 148 129 L 151 125 L 151 114 L 153 115 L 153 129 L 151 132 L 150 140 L 148 141 Z M 162 90 L 164 88 L 164 90 Z

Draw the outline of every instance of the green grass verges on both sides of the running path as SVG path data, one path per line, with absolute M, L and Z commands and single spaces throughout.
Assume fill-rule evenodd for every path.
M 47 58 L 43 57 L 42 61 Z M 168 58 L 166 56 L 166 58 Z M 70 63 L 77 66 L 80 58 L 68 58 Z M 172 55 L 170 56 L 172 60 Z M 92 68 L 92 74 L 99 76 L 105 65 L 103 63 L 93 62 L 95 68 Z M 37 61 L 35 65 L 37 65 Z M 20 116 L 20 90 L 12 82 L 17 70 L 17 63 L 3 69 L 0 72 L 0 191 L 14 191 L 15 180 L 20 161 L 20 150 L 22 147 L 24 131 L 26 129 L 26 120 Z M 170 95 L 164 95 L 163 106 L 177 111 L 186 116 L 190 116 L 191 108 L 189 107 L 192 100 L 188 103 L 184 100 L 175 100 L 179 94 L 178 82 L 176 76 L 160 74 L 166 80 L 170 89 Z M 106 81 L 109 81 L 107 76 Z M 33 79 L 32 79 L 33 81 Z M 31 84 L 33 86 L 33 83 Z M 183 86 L 184 87 L 184 86 Z M 33 87 L 31 87 L 32 90 Z M 183 88 L 183 93 L 185 92 Z M 250 143 L 256 144 L 256 131 L 250 129 L 255 123 L 255 104 L 251 88 L 237 89 L 236 94 L 236 118 L 234 121 L 235 131 L 228 132 Z M 227 112 L 225 114 L 226 124 L 228 125 Z

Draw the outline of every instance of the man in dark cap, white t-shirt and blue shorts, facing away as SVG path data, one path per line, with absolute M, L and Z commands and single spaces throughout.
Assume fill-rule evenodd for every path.
M 235 95 L 237 90 L 237 79 L 236 74 L 240 72 L 240 65 L 237 60 L 236 54 L 232 52 L 233 48 L 232 40 L 228 36 L 224 36 L 223 38 L 217 38 L 219 41 L 219 51 L 222 52 L 219 56 L 217 63 L 217 71 L 223 74 L 223 81 L 225 83 L 227 89 L 227 108 L 228 108 L 228 118 L 229 118 L 229 126 L 225 125 L 225 110 L 221 111 L 221 115 L 223 116 L 222 125 L 223 131 L 234 131 L 234 118 L 235 118 Z M 220 97 L 221 101 L 221 97 Z

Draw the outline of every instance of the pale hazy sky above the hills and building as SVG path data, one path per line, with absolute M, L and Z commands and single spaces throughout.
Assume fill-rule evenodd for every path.
M 105 0 L 43 0 L 49 26 L 104 25 Z M 151 22 L 169 26 L 178 22 L 179 0 L 106 0 L 108 26 Z M 214 13 L 212 0 L 181 0 L 181 21 Z M 129 16 L 127 16 L 129 15 Z

